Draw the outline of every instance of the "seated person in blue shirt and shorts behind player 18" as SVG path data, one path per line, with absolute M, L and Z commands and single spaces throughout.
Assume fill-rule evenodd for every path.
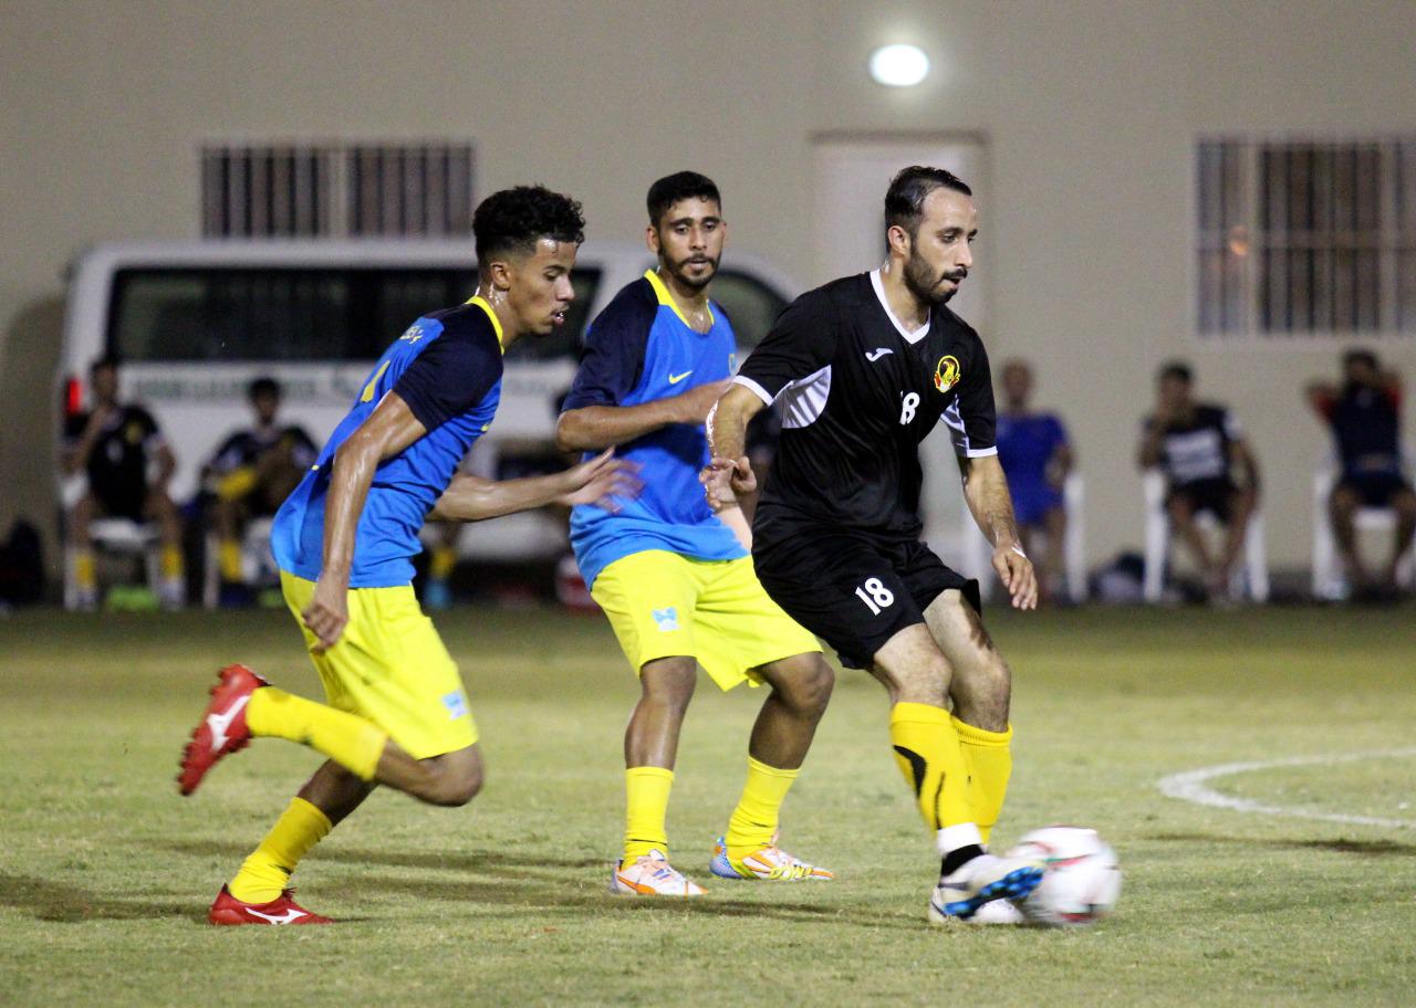
M 1004 408 L 998 412 L 998 462 L 1008 477 L 1012 511 L 1018 520 L 1024 548 L 1034 555 L 1032 544 L 1041 531 L 1046 551 L 1034 555 L 1038 590 L 1042 600 L 1056 593 L 1062 579 L 1066 505 L 1062 484 L 1076 464 L 1066 428 L 1056 413 L 1028 409 L 1032 396 L 1032 368 L 1011 360 L 1003 365 Z

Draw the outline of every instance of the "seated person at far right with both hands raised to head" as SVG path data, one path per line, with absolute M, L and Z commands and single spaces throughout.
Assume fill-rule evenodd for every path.
M 1348 576 L 1359 592 L 1395 592 L 1396 566 L 1416 534 L 1416 491 L 1402 471 L 1402 382 L 1383 371 L 1376 354 L 1349 350 L 1342 355 L 1342 386 L 1308 385 L 1308 402 L 1332 428 L 1341 476 L 1328 498 L 1332 537 Z M 1357 544 L 1357 512 L 1365 507 L 1396 512 L 1392 562 L 1374 582 Z

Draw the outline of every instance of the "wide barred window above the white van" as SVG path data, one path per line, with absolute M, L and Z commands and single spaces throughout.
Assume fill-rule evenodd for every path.
M 208 144 L 201 205 L 207 238 L 467 235 L 472 144 Z

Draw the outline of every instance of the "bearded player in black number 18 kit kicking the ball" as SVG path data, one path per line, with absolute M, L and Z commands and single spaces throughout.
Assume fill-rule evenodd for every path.
M 1018 609 L 1037 605 L 994 446 L 983 341 L 946 302 L 973 265 L 973 194 L 910 167 L 885 195 L 889 258 L 792 303 L 709 415 L 711 500 L 750 493 L 748 420 L 782 402 L 782 442 L 753 518 L 767 593 L 891 697 L 891 742 L 943 857 L 929 919 L 1021 919 L 1007 900 L 1037 861 L 987 852 L 1012 759 L 1008 665 L 980 620 L 978 583 L 920 541 L 919 442 L 943 420 L 964 497 Z

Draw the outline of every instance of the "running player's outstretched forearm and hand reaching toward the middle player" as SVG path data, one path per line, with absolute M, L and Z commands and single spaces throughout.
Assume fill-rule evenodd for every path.
M 462 474 L 453 479 L 438 498 L 429 518 L 449 521 L 484 521 L 547 504 L 593 504 L 615 512 L 620 501 L 639 496 L 643 484 L 637 467 L 605 450 L 588 462 L 549 476 L 520 480 L 487 480 Z

